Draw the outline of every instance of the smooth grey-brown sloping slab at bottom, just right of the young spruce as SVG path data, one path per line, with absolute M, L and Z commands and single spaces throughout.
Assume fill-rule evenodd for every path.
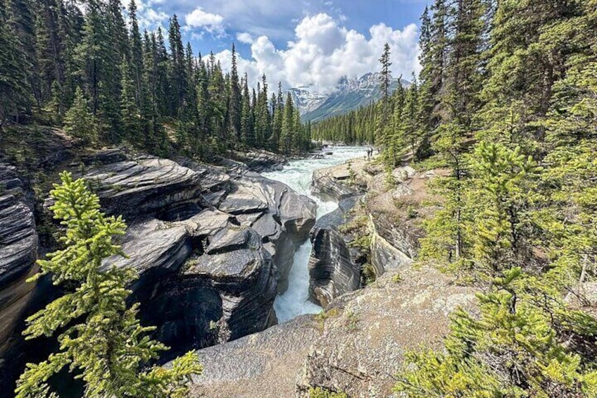
M 320 335 L 318 321 L 303 315 L 263 332 L 201 349 L 203 373 L 190 397 L 293 397 L 309 347 Z

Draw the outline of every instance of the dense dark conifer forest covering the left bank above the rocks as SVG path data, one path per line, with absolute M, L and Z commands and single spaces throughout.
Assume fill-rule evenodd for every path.
M 182 43 L 176 15 L 141 32 L 120 0 L 0 4 L 0 118 L 34 116 L 89 143 L 128 142 L 153 154 L 208 158 L 230 149 L 307 151 L 310 131 L 281 86 L 256 88 L 213 54 Z M 271 98 L 269 97 L 271 93 Z

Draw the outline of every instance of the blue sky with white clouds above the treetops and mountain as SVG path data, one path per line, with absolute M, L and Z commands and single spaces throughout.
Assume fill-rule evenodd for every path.
M 333 91 L 343 76 L 379 70 L 387 42 L 391 73 L 418 73 L 419 18 L 426 0 L 136 0 L 142 28 L 168 31 L 176 14 L 184 42 L 196 54 L 213 51 L 230 69 L 232 43 L 238 68 L 251 85 L 265 73 L 270 87 L 310 86 Z M 127 0 L 123 0 L 126 3 Z

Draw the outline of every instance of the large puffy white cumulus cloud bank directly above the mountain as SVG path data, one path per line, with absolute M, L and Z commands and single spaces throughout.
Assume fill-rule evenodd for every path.
M 286 49 L 277 49 L 267 36 L 253 39 L 239 34 L 237 39 L 251 44 L 251 58 L 239 58 L 239 71 L 246 72 L 251 82 L 265 73 L 271 85 L 288 87 L 312 86 L 319 92 L 330 92 L 341 77 L 360 77 L 379 70 L 383 46 L 391 48 L 391 73 L 408 79 L 420 70 L 417 61 L 417 26 L 402 30 L 379 23 L 369 30 L 368 37 L 348 30 L 327 13 L 308 15 L 298 22 L 294 40 Z M 216 54 L 223 68 L 230 68 L 229 50 Z

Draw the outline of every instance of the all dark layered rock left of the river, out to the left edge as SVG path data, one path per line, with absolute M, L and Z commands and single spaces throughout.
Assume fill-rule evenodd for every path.
M 308 237 L 316 209 L 308 197 L 250 171 L 279 168 L 284 158 L 263 153 L 249 165 L 230 161 L 231 167 L 221 167 L 121 149 L 78 153 L 54 131 L 39 142 L 38 157 L 19 163 L 31 175 L 43 168 L 39 192 L 47 193 L 66 168 L 89 181 L 104 211 L 125 217 L 128 229 L 120 243 L 127 258 L 106 259 L 105 266 L 138 271 L 131 300 L 141 303 L 142 321 L 156 325 L 155 337 L 172 347 L 163 360 L 277 322 L 273 301 L 285 289 L 294 251 Z M 51 151 L 43 147 L 46 142 Z M 7 153 L 18 161 L 20 150 Z M 25 192 L 14 168 L 0 165 L 0 355 L 8 337 L 22 340 L 24 317 L 56 293 L 46 281 L 44 289 L 50 289 L 43 294 L 39 284 L 25 283 L 35 272 L 38 240 L 33 201 L 25 197 L 32 192 Z M 43 205 L 39 219 L 50 220 L 51 201 Z M 46 349 L 10 341 L 11 352 L 0 356 L 0 385 L 9 388 L 22 369 L 17 356 Z M 6 361 L 15 363 L 14 375 Z

